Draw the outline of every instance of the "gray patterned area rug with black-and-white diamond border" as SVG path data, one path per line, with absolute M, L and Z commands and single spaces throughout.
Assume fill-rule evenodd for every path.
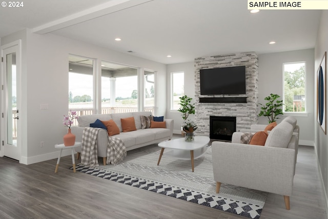
M 160 148 L 150 145 L 128 151 L 125 160 L 118 165 L 96 168 L 77 165 L 76 170 L 224 212 L 260 217 L 267 192 L 227 184 L 221 184 L 220 193 L 215 192 L 211 146 L 194 161 L 194 172 L 190 160 L 176 160 L 165 152 L 159 166 Z

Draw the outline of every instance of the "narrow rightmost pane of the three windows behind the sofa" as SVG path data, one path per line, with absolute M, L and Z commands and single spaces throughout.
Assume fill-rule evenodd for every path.
M 154 115 L 155 109 L 155 72 L 153 71 L 144 71 L 144 111 L 151 111 L 152 115 Z

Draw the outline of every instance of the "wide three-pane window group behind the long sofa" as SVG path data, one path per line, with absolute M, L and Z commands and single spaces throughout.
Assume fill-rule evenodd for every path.
M 101 65 L 101 72 L 97 72 Z M 69 110 L 78 115 L 109 114 L 155 109 L 155 72 L 144 71 L 144 83 L 138 68 L 69 55 Z M 141 75 L 140 75 L 141 76 Z M 142 78 L 142 77 L 141 77 Z M 144 92 L 139 92 L 139 89 Z M 145 93 L 142 96 L 140 93 Z M 141 95 L 141 96 L 140 96 Z M 139 101 L 144 98 L 143 101 Z M 139 106 L 145 103 L 144 106 Z M 77 122 L 74 121 L 74 125 Z

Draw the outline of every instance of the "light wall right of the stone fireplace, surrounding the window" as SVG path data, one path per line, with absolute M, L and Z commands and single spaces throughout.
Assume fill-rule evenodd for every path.
M 314 49 L 305 49 L 289 52 L 277 52 L 258 55 L 258 102 L 264 104 L 264 97 L 270 93 L 281 96 L 283 90 L 283 63 L 306 62 L 306 111 L 307 114 L 284 113 L 279 116 L 280 120 L 285 116 L 292 115 L 297 118 L 300 127 L 301 145 L 314 144 Z M 267 117 L 259 117 L 259 124 L 268 124 Z

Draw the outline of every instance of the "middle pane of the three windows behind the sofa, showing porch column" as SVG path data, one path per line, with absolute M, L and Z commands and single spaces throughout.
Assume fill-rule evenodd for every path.
M 101 113 L 138 111 L 138 69 L 101 62 Z

